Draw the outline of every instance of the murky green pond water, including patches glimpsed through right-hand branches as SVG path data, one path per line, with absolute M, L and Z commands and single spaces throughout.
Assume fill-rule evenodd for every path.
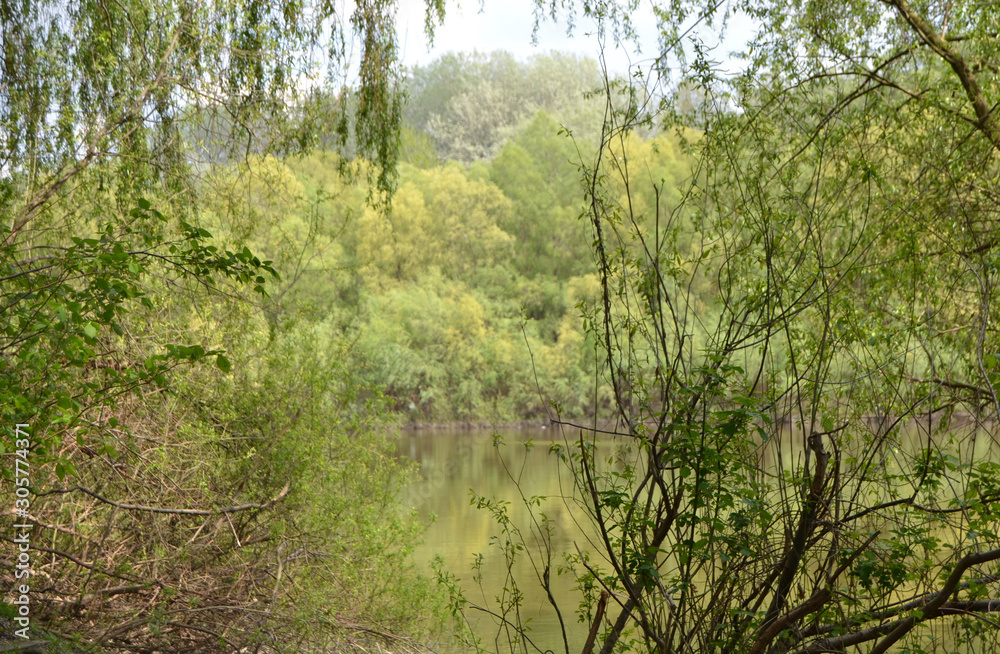
M 841 443 L 840 455 L 845 459 L 857 456 L 863 460 L 866 454 L 873 465 L 887 473 L 900 468 L 900 451 L 920 451 L 927 447 L 927 440 L 941 439 L 933 436 L 919 425 L 909 425 L 900 430 L 892 444 L 879 453 L 864 452 L 857 444 Z M 974 431 L 971 432 L 973 435 Z M 572 437 L 572 434 L 567 434 Z M 958 433 L 949 435 L 949 439 Z M 968 434 L 966 434 L 968 436 Z M 508 583 L 503 554 L 496 543 L 500 535 L 497 522 L 488 511 L 476 509 L 470 503 L 473 492 L 487 498 L 497 498 L 509 502 L 508 515 L 514 527 L 521 530 L 525 541 L 531 545 L 534 559 L 529 560 L 522 553 L 520 563 L 515 567 L 515 578 L 520 584 L 524 600 L 520 610 L 522 621 L 530 621 L 530 637 L 542 651 L 563 651 L 563 642 L 556 613 L 549 603 L 538 580 L 545 568 L 540 560 L 541 542 L 538 532 L 532 530 L 532 516 L 525 507 L 523 497 L 542 496 L 536 515 L 544 514 L 550 521 L 553 532 L 551 550 L 553 559 L 553 596 L 562 612 L 571 652 L 579 652 L 586 640 L 589 624 L 577 620 L 576 611 L 580 601 L 579 593 L 573 591 L 572 574 L 558 574 L 565 562 L 562 552 L 599 552 L 600 548 L 590 544 L 593 532 L 588 528 L 583 509 L 574 503 L 572 480 L 556 456 L 549 451 L 553 439 L 563 442 L 558 431 L 542 429 L 504 430 L 499 437 L 505 443 L 499 452 L 494 448 L 494 436 L 481 431 L 436 431 L 423 430 L 403 432 L 397 438 L 398 452 L 420 464 L 421 481 L 411 485 L 403 498 L 406 507 L 413 507 L 422 516 L 436 516 L 430 526 L 424 543 L 416 552 L 419 565 L 430 571 L 430 561 L 440 555 L 446 569 L 462 580 L 462 587 L 471 604 L 497 610 L 497 595 Z M 797 469 L 802 465 L 804 448 L 800 445 L 801 431 L 792 426 L 782 430 L 758 452 L 758 464 L 765 468 L 778 466 L 785 470 Z M 525 447 L 533 443 L 533 447 Z M 965 438 L 963 454 L 973 460 L 1000 460 L 998 447 L 992 438 Z M 773 451 L 772 451 L 773 450 Z M 859 450 L 852 452 L 852 450 Z M 610 454 L 610 448 L 608 453 Z M 502 458 L 501 458 L 502 455 Z M 519 484 L 515 484 L 515 481 Z M 520 486 L 519 494 L 518 485 Z M 848 484 L 849 487 L 849 484 Z M 846 489 L 845 489 L 846 490 Z M 906 494 L 910 489 L 902 482 L 897 493 Z M 848 495 L 849 496 L 849 495 Z M 876 498 L 878 499 L 878 498 Z M 889 499 L 882 498 L 882 499 Z M 844 507 L 850 512 L 851 507 Z M 581 524 L 582 523 L 582 524 Z M 964 533 L 939 534 L 943 540 L 960 540 Z M 482 583 L 473 581 L 472 563 L 477 554 L 483 554 Z M 596 560 L 596 559 L 595 559 Z M 497 652 L 510 651 L 500 623 L 485 614 L 479 615 L 476 628 L 483 637 L 484 644 Z M 955 647 L 952 628 L 945 622 L 936 622 L 925 628 L 922 638 L 937 636 L 939 644 L 947 651 L 970 652 L 966 646 Z M 529 648 L 530 650 L 531 648 Z M 929 648 L 933 650 L 933 647 Z M 893 651 L 900 651 L 893 648 Z

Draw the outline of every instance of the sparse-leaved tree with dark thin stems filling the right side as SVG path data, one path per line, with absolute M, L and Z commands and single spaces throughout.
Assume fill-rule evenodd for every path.
M 662 12 L 663 43 L 716 7 Z M 609 84 L 584 162 L 615 422 L 552 451 L 587 519 L 585 651 L 995 648 L 996 9 L 739 10 L 745 73 L 685 59 L 705 113 Z M 628 147 L 652 122 L 695 160 L 674 197 Z M 549 588 L 546 524 L 498 545 Z

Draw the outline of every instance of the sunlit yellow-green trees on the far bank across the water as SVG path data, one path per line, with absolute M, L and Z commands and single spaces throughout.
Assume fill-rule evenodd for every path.
M 441 98 L 464 92 L 467 81 L 446 74 L 451 68 L 522 95 L 562 84 L 558 101 L 538 104 L 577 120 L 599 111 L 599 100 L 586 97 L 599 79 L 596 62 L 553 55 L 522 65 L 499 53 L 448 56 L 417 70 L 410 106 L 440 115 L 435 102 L 447 105 Z M 567 80 L 567 69 L 582 72 Z M 205 224 L 225 226 L 284 271 L 266 303 L 272 325 L 331 320 L 353 339 L 356 374 L 406 420 L 544 420 L 552 402 L 572 415 L 610 402 L 587 381 L 594 342 L 578 320 L 578 305 L 597 293 L 578 172 L 592 142 L 567 134 L 561 115 L 528 116 L 530 103 L 515 104 L 522 117 L 503 138 L 449 119 L 470 147 L 498 139 L 494 158 L 470 165 L 440 155 L 426 121 L 423 129 L 406 123 L 388 212 L 366 206 L 367 185 L 345 181 L 333 153 L 254 157 L 205 185 Z M 636 138 L 629 148 L 671 184 L 688 174 L 673 137 Z M 233 216 L 247 218 L 235 225 Z

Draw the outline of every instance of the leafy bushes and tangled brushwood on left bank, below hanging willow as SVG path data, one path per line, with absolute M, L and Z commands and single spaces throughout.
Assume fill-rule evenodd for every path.
M 181 642 L 171 622 L 201 602 L 228 607 L 184 640 L 203 651 L 364 647 L 352 629 L 369 624 L 430 638 L 438 599 L 409 560 L 421 526 L 397 506 L 410 471 L 384 438 L 381 394 L 347 367 L 348 342 L 329 323 L 268 325 L 251 300 L 280 282 L 270 261 L 137 204 L 72 245 L 34 241 L 58 256 L 0 252 L 2 416 L 29 425 L 32 522 L 59 525 L 44 536 L 57 556 L 34 564 L 58 581 L 33 585 L 33 621 L 167 648 Z M 5 451 L 24 449 L 15 436 L 5 429 Z M 98 539 L 115 548 L 66 563 Z M 106 587 L 126 590 L 97 601 Z M 84 599 L 67 613 L 51 592 Z

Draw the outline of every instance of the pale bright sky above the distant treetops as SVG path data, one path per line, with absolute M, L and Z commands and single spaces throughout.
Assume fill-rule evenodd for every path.
M 479 0 L 464 0 L 461 6 L 448 2 L 444 24 L 437 28 L 434 46 L 428 51 L 424 35 L 424 1 L 400 0 L 397 24 L 403 63 L 407 66 L 426 65 L 448 51 L 474 50 L 506 50 L 520 60 L 551 50 L 597 58 L 600 43 L 595 35 L 596 26 L 586 18 L 579 18 L 573 35 L 568 36 L 565 22 L 553 23 L 546 17 L 539 26 L 538 43 L 532 45 L 534 6 L 533 0 L 487 0 L 483 11 L 480 11 Z M 643 52 L 629 52 L 610 46 L 605 51 L 605 59 L 611 73 L 628 74 L 630 65 L 636 64 L 648 68 L 658 54 L 656 21 L 650 4 L 644 2 L 632 19 L 639 32 Z M 746 22 L 731 23 L 729 38 L 716 58 L 728 62 L 724 52 L 739 49 L 749 37 L 751 27 Z M 715 43 L 711 38 L 707 41 Z M 735 68 L 735 63 L 731 67 Z

